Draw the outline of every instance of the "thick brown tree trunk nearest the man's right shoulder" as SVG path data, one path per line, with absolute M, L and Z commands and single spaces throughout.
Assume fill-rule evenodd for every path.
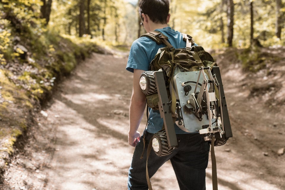
M 232 47 L 232 39 L 233 39 L 233 34 L 234 34 L 234 2 L 233 2 L 233 0 L 227 1 L 227 17 L 228 17 L 227 44 L 229 47 Z

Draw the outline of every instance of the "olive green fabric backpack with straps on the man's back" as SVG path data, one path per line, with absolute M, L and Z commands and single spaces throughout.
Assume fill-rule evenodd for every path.
M 170 97 L 169 86 L 172 82 L 173 76 L 179 72 L 185 71 L 199 71 L 201 66 L 213 67 L 217 66 L 210 53 L 206 52 L 202 46 L 194 46 L 194 40 L 191 36 L 183 34 L 183 40 L 186 41 L 186 48 L 175 49 L 168 41 L 168 37 L 159 31 L 152 31 L 143 34 L 141 37 L 148 37 L 155 41 L 157 44 L 164 43 L 166 47 L 160 48 L 155 55 L 155 58 L 151 61 L 149 71 L 158 71 L 162 69 L 166 77 L 167 93 Z M 148 78 L 152 77 L 152 72 L 144 72 Z M 153 79 L 154 82 L 154 79 Z M 155 84 L 148 85 L 148 88 L 143 90 L 147 96 L 147 104 L 150 108 L 158 110 L 158 94 L 155 88 Z M 176 100 L 172 101 L 172 111 L 175 112 Z M 174 115 L 174 113 L 172 113 Z

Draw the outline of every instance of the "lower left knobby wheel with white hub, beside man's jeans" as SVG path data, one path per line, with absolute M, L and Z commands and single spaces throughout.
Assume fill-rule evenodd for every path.
M 172 153 L 173 147 L 168 147 L 166 132 L 157 132 L 152 137 L 152 148 L 157 156 L 167 156 Z

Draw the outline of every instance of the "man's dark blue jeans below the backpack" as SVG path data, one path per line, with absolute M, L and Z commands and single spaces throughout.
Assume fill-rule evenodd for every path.
M 129 190 L 147 190 L 146 180 L 146 153 L 148 144 L 153 134 L 145 132 L 145 150 L 143 159 L 140 156 L 143 152 L 143 140 L 137 144 L 129 168 L 128 189 Z M 206 168 L 208 166 L 208 157 L 210 144 L 205 142 L 200 134 L 177 134 L 179 142 L 178 148 L 174 149 L 172 154 L 158 157 L 152 150 L 148 158 L 148 173 L 151 178 L 156 171 L 167 160 L 170 159 L 174 169 L 180 190 L 205 190 Z M 167 182 L 165 182 L 167 183 Z

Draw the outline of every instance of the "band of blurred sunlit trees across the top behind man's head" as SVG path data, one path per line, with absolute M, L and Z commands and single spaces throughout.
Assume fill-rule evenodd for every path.
M 139 25 L 136 0 L 0 2 L 2 19 L 14 14 L 25 18 L 28 25 L 42 22 L 40 27 L 47 25 L 62 35 L 129 45 L 145 32 Z M 212 48 L 243 48 L 256 42 L 284 45 L 284 4 L 284 0 L 171 0 L 169 25 Z

